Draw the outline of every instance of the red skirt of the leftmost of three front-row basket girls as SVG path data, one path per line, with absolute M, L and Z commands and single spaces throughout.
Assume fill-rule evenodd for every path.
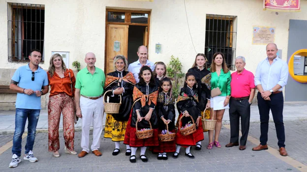
M 132 108 L 133 109 L 133 108 Z M 129 144 L 131 147 L 157 146 L 159 145 L 158 129 L 153 129 L 153 137 L 147 139 L 138 139 L 135 135 L 136 128 L 131 127 L 132 110 L 128 119 L 124 144 Z

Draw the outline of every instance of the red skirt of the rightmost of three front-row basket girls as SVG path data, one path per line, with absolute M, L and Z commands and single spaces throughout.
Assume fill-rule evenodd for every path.
M 180 114 L 179 118 L 182 116 Z M 196 122 L 196 121 L 195 121 Z M 199 121 L 198 127 L 196 127 L 196 131 L 187 136 L 183 136 L 180 132 L 180 128 L 178 128 L 178 132 L 176 134 L 176 144 L 181 145 L 183 147 L 195 146 L 197 142 L 204 140 L 203 133 L 203 124 Z

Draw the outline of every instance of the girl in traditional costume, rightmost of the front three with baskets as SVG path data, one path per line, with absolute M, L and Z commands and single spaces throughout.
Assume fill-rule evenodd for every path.
M 192 123 L 191 117 L 196 123 L 196 131 L 187 136 L 183 136 L 180 132 L 181 128 L 178 128 L 176 134 L 176 152 L 173 158 L 178 158 L 178 154 L 181 147 L 185 147 L 185 156 L 194 159 L 194 156 L 190 153 L 190 147 L 195 146 L 196 143 L 204 140 L 203 126 L 201 122 L 201 113 L 198 103 L 198 94 L 196 89 L 196 81 L 193 73 L 185 74 L 184 87 L 181 88 L 180 94 L 177 99 L 177 109 L 179 112 L 179 118 L 184 115 L 181 121 L 181 126 L 184 127 Z M 191 116 L 191 117 L 190 117 Z

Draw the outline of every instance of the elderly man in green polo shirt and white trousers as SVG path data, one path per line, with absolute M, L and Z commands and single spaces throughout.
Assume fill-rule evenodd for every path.
M 93 124 L 92 153 L 101 156 L 99 152 L 100 135 L 102 132 L 102 113 L 103 113 L 103 86 L 105 82 L 104 72 L 95 67 L 96 57 L 93 53 L 85 56 L 87 67 L 77 74 L 76 79 L 76 115 L 82 118 L 82 151 L 78 157 L 82 158 L 90 151 L 90 125 Z

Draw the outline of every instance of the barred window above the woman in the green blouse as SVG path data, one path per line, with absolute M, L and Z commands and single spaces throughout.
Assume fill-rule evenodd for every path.
M 222 52 L 228 68 L 235 70 L 236 41 L 237 16 L 207 14 L 205 55 L 209 65 L 213 55 Z

